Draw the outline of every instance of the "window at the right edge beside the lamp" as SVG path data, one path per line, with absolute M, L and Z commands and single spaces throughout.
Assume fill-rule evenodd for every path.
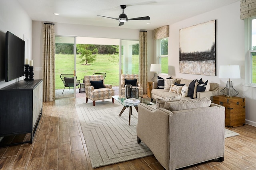
M 248 70 L 246 78 L 249 85 L 256 86 L 256 17 L 249 18 L 246 24 L 248 25 L 248 56 L 246 57 Z

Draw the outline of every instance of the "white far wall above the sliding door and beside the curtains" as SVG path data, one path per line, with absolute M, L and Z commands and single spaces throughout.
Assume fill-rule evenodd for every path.
M 42 28 L 43 22 L 32 22 L 32 37 L 33 37 L 33 49 L 32 56 L 34 60 L 34 67 L 42 66 Z M 99 37 L 99 38 L 115 38 L 126 40 L 138 40 L 138 29 L 124 29 L 124 28 L 112 28 L 112 27 L 98 27 L 90 25 L 76 25 L 55 23 L 55 35 L 61 36 L 81 36 L 81 37 Z M 152 31 L 148 31 L 148 63 L 151 63 L 153 59 L 153 37 Z M 149 64 L 150 66 L 150 64 Z M 150 70 L 150 67 L 148 67 Z M 42 78 L 41 71 L 34 71 L 35 78 Z M 149 76 L 150 77 L 150 76 Z

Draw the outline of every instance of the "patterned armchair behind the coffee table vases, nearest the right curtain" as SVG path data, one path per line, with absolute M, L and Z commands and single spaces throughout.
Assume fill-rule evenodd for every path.
M 133 80 L 137 79 L 137 86 L 132 86 L 132 88 L 138 88 L 140 97 L 143 97 L 142 84 L 139 82 L 139 74 L 121 74 L 121 96 L 125 96 L 125 79 Z

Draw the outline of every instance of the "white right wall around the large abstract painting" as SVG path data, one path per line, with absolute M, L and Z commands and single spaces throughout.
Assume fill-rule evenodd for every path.
M 206 21 L 216 20 L 216 75 L 203 76 L 179 72 L 179 30 Z M 239 91 L 238 97 L 246 99 L 246 123 L 256 126 L 256 88 L 245 84 L 244 20 L 240 20 L 240 1 L 170 24 L 168 39 L 169 75 L 178 78 L 200 79 L 219 83 L 225 87 L 227 79 L 218 78 L 220 65 L 240 65 L 241 79 L 232 79 Z

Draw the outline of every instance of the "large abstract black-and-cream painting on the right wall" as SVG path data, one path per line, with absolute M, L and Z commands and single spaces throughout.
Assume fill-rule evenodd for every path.
M 216 76 L 215 23 L 180 29 L 180 73 Z

